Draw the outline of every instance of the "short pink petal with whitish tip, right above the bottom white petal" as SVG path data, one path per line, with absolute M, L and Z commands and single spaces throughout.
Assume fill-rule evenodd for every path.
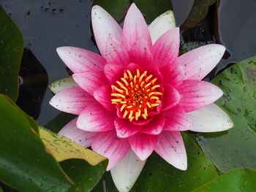
M 129 137 L 129 144 L 138 158 L 140 158 L 141 161 L 144 161 L 153 152 L 157 145 L 157 140 L 157 135 L 143 134 L 139 132 L 132 137 Z

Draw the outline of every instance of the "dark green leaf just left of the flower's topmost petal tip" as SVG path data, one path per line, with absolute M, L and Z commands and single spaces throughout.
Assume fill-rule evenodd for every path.
M 94 5 L 104 8 L 118 23 L 124 20 L 131 4 L 130 0 L 94 0 Z

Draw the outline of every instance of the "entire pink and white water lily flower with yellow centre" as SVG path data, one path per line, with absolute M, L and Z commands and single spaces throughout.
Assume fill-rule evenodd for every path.
M 91 11 L 101 55 L 78 47 L 57 52 L 77 86 L 50 104 L 78 115 L 59 134 L 109 159 L 119 191 L 129 191 L 153 151 L 187 169 L 180 131 L 224 131 L 233 126 L 214 104 L 222 91 L 202 81 L 225 52 L 206 45 L 178 56 L 179 28 L 168 11 L 147 26 L 132 4 L 121 28 L 102 7 Z

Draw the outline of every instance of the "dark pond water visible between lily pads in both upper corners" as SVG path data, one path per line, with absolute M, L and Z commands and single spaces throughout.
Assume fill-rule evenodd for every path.
M 69 75 L 56 47 L 70 45 L 98 53 L 91 40 L 92 1 L 0 0 L 0 4 L 18 25 L 25 41 L 18 104 L 44 125 L 59 113 L 48 104 L 53 94 L 46 85 Z M 173 0 L 178 26 L 187 18 L 192 4 L 191 0 Z M 211 6 L 206 19 L 181 33 L 183 48 L 214 42 L 227 47 L 225 57 L 209 75 L 211 78 L 227 64 L 256 55 L 256 1 L 225 0 L 217 8 Z

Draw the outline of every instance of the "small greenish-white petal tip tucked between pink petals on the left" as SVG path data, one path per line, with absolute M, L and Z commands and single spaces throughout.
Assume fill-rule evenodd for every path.
M 74 88 L 78 87 L 78 83 L 76 83 L 72 76 L 64 77 L 60 80 L 56 80 L 48 86 L 50 88 L 50 91 L 54 94 L 59 93 L 59 91 L 62 91 L 66 88 Z

